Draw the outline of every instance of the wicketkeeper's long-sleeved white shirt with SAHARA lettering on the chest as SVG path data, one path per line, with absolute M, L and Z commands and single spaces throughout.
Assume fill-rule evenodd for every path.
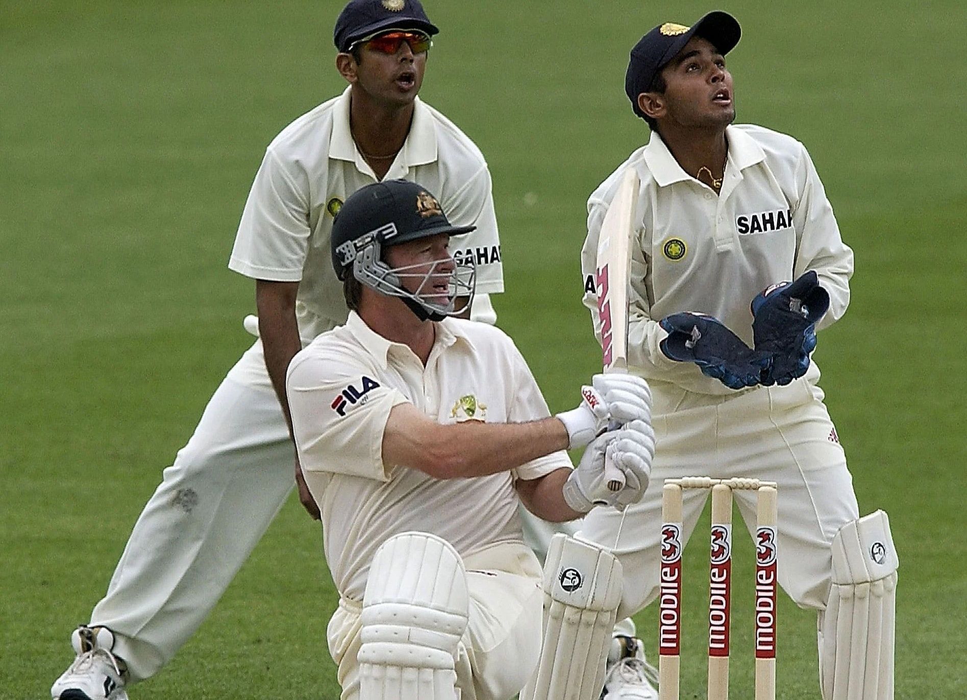
M 853 251 L 843 244 L 833 207 L 806 147 L 777 131 L 734 125 L 725 131 L 728 160 L 721 190 L 682 169 L 657 134 L 630 155 L 588 199 L 588 236 L 581 251 L 584 304 L 600 335 L 594 291 L 601 222 L 621 177 L 633 167 L 641 181 L 631 246 L 628 362 L 653 384 L 690 392 L 732 394 L 692 363 L 676 363 L 659 349 L 665 316 L 700 311 L 718 318 L 752 345 L 749 305 L 776 282 L 814 270 L 830 294 L 818 328 L 849 304 Z M 815 382 L 813 363 L 806 379 Z M 660 391 L 660 384 L 655 385 Z

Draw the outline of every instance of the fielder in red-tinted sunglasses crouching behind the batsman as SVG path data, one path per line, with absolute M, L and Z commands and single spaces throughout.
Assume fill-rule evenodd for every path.
M 255 280 L 259 339 L 228 372 L 188 445 L 164 470 L 107 595 L 73 632 L 76 658 L 55 700 L 121 700 L 201 625 L 285 501 L 293 481 L 315 517 L 285 401 L 289 361 L 346 321 L 330 233 L 342 202 L 401 178 L 436 192 L 454 225 L 475 227 L 454 258 L 476 266 L 470 315 L 493 323 L 503 291 L 490 174 L 477 146 L 417 97 L 430 37 L 418 0 L 352 0 L 337 18 L 336 67 L 349 84 L 282 130 L 249 192 L 229 268 Z M 248 321 L 249 319 L 247 319 Z

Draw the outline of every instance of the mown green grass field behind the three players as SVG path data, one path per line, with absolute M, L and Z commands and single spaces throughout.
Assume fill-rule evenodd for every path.
M 426 0 L 443 33 L 423 96 L 490 163 L 508 292 L 500 325 L 551 407 L 600 355 L 580 306 L 588 193 L 647 133 L 623 93 L 653 25 L 713 9 L 621 0 Z M 739 121 L 809 148 L 846 241 L 853 302 L 821 336 L 822 386 L 861 508 L 900 550 L 896 697 L 967 696 L 960 569 L 967 10 L 724 9 Z M 249 344 L 253 285 L 227 270 L 265 145 L 342 89 L 341 1 L 0 0 L 0 695 L 44 698 L 161 469 Z M 750 697 L 750 556 L 737 540 L 733 696 Z M 689 550 L 693 603 L 702 553 Z M 959 571 L 959 572 L 958 572 Z M 743 604 L 747 600 L 749 604 Z M 334 592 L 293 497 L 211 618 L 132 698 L 336 698 Z M 781 698 L 819 697 L 815 622 L 780 607 Z M 701 604 L 683 697 L 703 696 Z M 655 654 L 655 616 L 639 618 Z

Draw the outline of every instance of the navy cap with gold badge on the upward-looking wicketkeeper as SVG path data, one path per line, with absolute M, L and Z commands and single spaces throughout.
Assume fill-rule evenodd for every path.
M 724 56 L 739 43 L 742 29 L 735 17 L 716 11 L 690 27 L 665 22 L 643 36 L 631 49 L 628 72 L 625 73 L 625 93 L 639 117 L 645 115 L 638 108 L 638 95 L 648 92 L 655 76 L 695 36 L 707 39 Z

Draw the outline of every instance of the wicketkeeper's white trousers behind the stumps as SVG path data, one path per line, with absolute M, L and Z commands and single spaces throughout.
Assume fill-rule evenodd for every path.
M 693 394 L 659 382 L 652 392 L 656 452 L 644 499 L 628 508 L 617 547 L 616 510 L 592 510 L 579 534 L 613 547 L 621 560 L 625 586 L 618 619 L 658 594 L 661 486 L 665 479 L 689 476 L 777 481 L 779 585 L 801 607 L 824 610 L 833 537 L 860 513 L 822 390 L 803 378 L 729 396 Z M 684 493 L 686 540 L 708 495 Z M 755 493 L 735 491 L 734 498 L 754 532 Z M 733 546 L 741 547 L 742 537 L 736 532 Z M 708 534 L 701 540 L 699 546 L 707 547 Z

